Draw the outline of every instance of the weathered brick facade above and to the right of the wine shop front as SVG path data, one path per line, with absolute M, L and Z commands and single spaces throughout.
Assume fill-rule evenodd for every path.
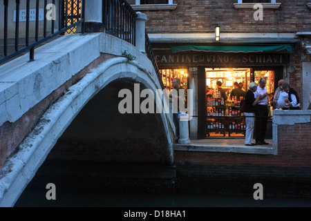
M 128 2 L 135 5 L 135 0 Z M 138 10 L 147 15 L 146 28 L 149 34 L 214 33 L 216 25 L 220 26 L 220 37 L 221 33 L 295 34 L 311 29 L 311 9 L 307 5 L 311 3 L 310 0 L 276 1 L 281 3 L 281 6 L 274 9 L 263 8 L 262 21 L 254 19 L 256 10 L 252 8 L 235 8 L 234 3 L 238 3 L 238 0 L 174 0 L 173 3 L 177 5 L 173 10 Z M 309 41 L 309 38 L 296 37 L 301 43 Z M 279 39 L 281 42 L 282 37 Z M 178 44 L 178 39 L 175 38 L 173 43 Z M 290 53 L 287 74 L 284 67 L 283 78 L 290 81 L 301 100 L 303 100 L 301 62 L 310 60 L 311 55 L 303 50 L 301 44 L 296 43 Z

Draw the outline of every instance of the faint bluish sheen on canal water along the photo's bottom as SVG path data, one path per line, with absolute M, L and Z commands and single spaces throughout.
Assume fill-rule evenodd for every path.
M 196 193 L 126 194 L 126 193 L 73 193 L 57 192 L 56 200 L 46 200 L 46 191 L 27 190 L 15 206 L 91 206 L 91 207 L 222 207 L 222 206 L 311 206 L 310 198 L 207 195 Z

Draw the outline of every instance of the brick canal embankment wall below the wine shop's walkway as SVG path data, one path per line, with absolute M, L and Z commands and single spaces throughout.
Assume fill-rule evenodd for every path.
M 311 123 L 278 128 L 278 155 L 175 151 L 180 191 L 245 194 L 263 184 L 264 195 L 311 197 Z

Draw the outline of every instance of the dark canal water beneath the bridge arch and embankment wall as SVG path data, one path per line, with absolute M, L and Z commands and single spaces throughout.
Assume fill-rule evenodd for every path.
M 88 166 L 87 166 L 88 165 Z M 129 166 L 127 166 L 129 167 Z M 144 166 L 146 168 L 146 166 Z M 303 195 L 270 195 L 271 183 L 263 181 L 263 200 L 255 200 L 253 180 L 228 180 L 227 186 L 222 186 L 215 177 L 199 179 L 184 177 L 178 173 L 177 178 L 162 180 L 140 180 L 124 177 L 131 174 L 124 166 L 107 173 L 107 166 L 100 164 L 74 164 L 73 162 L 46 161 L 28 184 L 16 202 L 16 207 L 310 207 L 311 198 Z M 116 168 L 116 166 L 113 166 Z M 111 167 L 109 167 L 111 169 Z M 152 168 L 151 168 L 152 169 Z M 147 171 L 151 171 L 148 169 Z M 135 167 L 133 173 L 138 173 Z M 141 171 L 140 171 L 141 172 Z M 121 174 L 122 173 L 122 174 Z M 115 175 L 116 174 L 116 175 Z M 115 175 L 114 178 L 112 175 Z M 222 177 L 223 179 L 223 177 Z M 212 180 L 212 182 L 211 182 Z M 243 180 L 239 182 L 239 180 Z M 46 194 L 50 188 L 46 184 L 55 184 L 55 200 L 48 200 Z M 209 186 L 207 186 L 207 184 Z M 284 182 L 285 183 L 285 182 Z M 249 186 L 244 193 L 235 194 L 229 191 L 229 186 Z M 290 192 L 294 187 L 300 193 L 310 193 L 310 184 L 301 185 L 305 189 L 298 189 L 295 184 L 284 189 Z M 205 189 L 205 187 L 207 187 Z M 234 189 L 236 189 L 234 186 Z M 214 189 L 214 191 L 208 191 Z M 223 191 L 225 189 L 225 191 Z M 245 189 L 244 187 L 242 189 Z M 222 190 L 219 191 L 218 190 Z M 274 192 L 272 189 L 270 192 Z M 50 193 L 50 192 L 49 192 Z M 221 194 L 220 194 L 221 193 Z M 309 195 L 310 197 L 310 195 Z

